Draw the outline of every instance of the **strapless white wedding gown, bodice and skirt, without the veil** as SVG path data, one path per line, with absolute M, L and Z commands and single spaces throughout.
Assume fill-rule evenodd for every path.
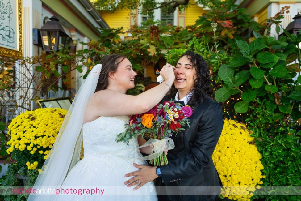
M 65 194 L 55 196 L 55 200 L 157 200 L 153 182 L 141 188 L 127 187 L 124 182 L 132 177 L 126 173 L 137 171 L 133 163 L 147 165 L 139 152 L 137 139 L 127 143 L 115 143 L 116 135 L 124 131 L 127 116 L 99 117 L 83 125 L 84 158 L 69 172 L 62 189 L 102 189 L 94 195 Z M 80 186 L 80 187 L 79 187 Z M 98 191 L 99 192 L 99 191 Z

